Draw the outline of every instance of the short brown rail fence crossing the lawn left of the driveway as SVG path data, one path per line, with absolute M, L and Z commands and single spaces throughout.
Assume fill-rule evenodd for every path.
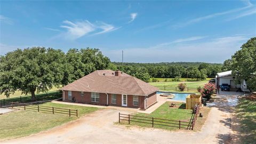
M 40 106 L 40 105 L 29 105 L 27 103 L 19 103 L 19 102 L 10 102 L 10 106 L 13 109 L 15 107 L 21 108 L 23 110 L 31 109 L 36 110 L 37 112 L 44 112 L 44 113 L 52 113 L 52 114 L 65 114 L 69 116 L 78 116 L 77 109 L 66 109 L 66 108 L 57 108 L 57 107 L 47 107 L 47 106 Z

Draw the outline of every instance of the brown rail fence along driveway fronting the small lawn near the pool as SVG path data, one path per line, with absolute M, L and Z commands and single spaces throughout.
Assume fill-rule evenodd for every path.
M 168 126 L 168 127 L 176 127 L 179 129 L 186 129 L 189 130 L 191 127 L 191 122 L 184 122 L 184 121 L 174 121 L 171 119 L 162 119 L 162 118 L 154 118 L 154 117 L 143 117 L 143 116 L 135 116 L 135 115 L 126 115 L 119 113 L 119 123 L 122 121 L 130 122 L 138 122 L 138 123 L 146 123 L 150 124 L 152 127 L 155 125 L 160 126 Z M 192 121 L 193 122 L 193 121 Z M 192 126 L 193 129 L 193 126 Z

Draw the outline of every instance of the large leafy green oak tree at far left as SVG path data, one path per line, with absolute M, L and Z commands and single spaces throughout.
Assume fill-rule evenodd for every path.
M 20 90 L 35 100 L 35 91 L 45 92 L 61 84 L 63 58 L 65 53 L 61 50 L 45 47 L 7 53 L 0 61 L 0 93 L 8 97 Z

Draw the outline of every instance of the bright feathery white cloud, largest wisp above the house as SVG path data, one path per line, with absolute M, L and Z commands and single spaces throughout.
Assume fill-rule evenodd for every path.
M 63 23 L 65 23 L 66 25 L 62 25 L 60 27 L 66 28 L 67 31 L 65 33 L 62 33 L 61 35 L 64 36 L 66 39 L 71 40 L 77 39 L 85 35 L 105 34 L 120 28 L 116 28 L 115 26 L 109 25 L 105 22 L 91 23 L 88 20 L 76 22 L 66 20 L 63 21 Z

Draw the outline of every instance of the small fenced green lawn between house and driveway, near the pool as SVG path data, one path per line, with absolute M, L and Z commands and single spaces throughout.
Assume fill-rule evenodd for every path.
M 189 122 L 189 120 L 192 116 L 192 113 L 191 113 L 192 110 L 185 109 L 186 108 L 185 103 L 183 103 L 183 104 L 182 103 L 177 103 L 175 108 L 170 107 L 170 103 L 171 102 L 165 102 L 162 106 L 158 107 L 151 114 L 135 113 L 133 115 L 143 116 L 143 117 L 171 119 L 171 120 L 174 120 L 174 121 Z M 139 118 L 139 117 L 134 117 L 134 118 Z M 142 118 L 142 119 L 148 119 L 148 118 Z M 149 120 L 151 120 L 151 119 L 149 119 Z M 134 121 L 140 121 L 141 122 L 142 120 L 134 119 Z M 155 121 L 163 121 L 163 120 L 155 119 Z M 143 122 L 148 122 L 148 121 L 143 121 Z M 179 124 L 179 122 L 170 122 L 170 121 L 165 121 L 165 122 Z M 127 121 L 124 121 L 124 123 L 127 123 Z M 151 122 L 149 122 L 149 123 L 151 123 Z M 155 124 L 157 124 L 157 123 L 158 122 L 155 122 Z M 138 123 L 138 122 L 131 122 L 130 124 L 131 125 L 138 125 L 138 126 L 146 126 L 146 127 L 151 127 L 152 126 L 152 124 L 145 124 L 145 123 Z M 163 124 L 163 123 L 158 123 L 158 124 Z M 183 124 L 187 124 L 187 123 L 183 123 Z M 173 124 L 167 124 L 167 125 L 173 125 Z M 173 125 L 173 126 L 179 126 L 179 125 Z M 161 126 L 161 125 L 154 125 L 154 127 L 162 128 L 162 129 L 166 129 L 166 130 L 175 130 L 175 129 L 177 129 L 175 127 Z M 183 127 L 187 127 L 187 126 L 183 126 Z

